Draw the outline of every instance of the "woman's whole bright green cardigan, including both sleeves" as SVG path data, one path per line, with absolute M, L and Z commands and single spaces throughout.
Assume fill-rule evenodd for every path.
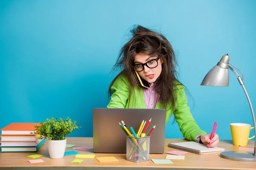
M 206 134 L 206 132 L 198 127 L 190 113 L 184 87 L 177 85 L 177 89 L 176 109 L 175 111 L 172 109 L 166 111 L 166 123 L 174 113 L 175 120 L 183 137 L 189 141 L 197 142 L 196 137 L 203 133 Z M 130 85 L 126 77 L 119 76 L 111 86 L 111 90 L 113 94 L 107 108 L 146 108 L 142 88 L 135 87 L 129 98 Z M 157 103 L 155 109 L 160 109 L 160 102 Z

